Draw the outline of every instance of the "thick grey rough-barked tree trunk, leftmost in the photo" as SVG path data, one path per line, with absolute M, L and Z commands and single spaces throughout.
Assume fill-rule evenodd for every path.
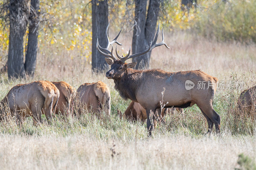
M 8 50 L 8 78 L 25 76 L 23 58 L 23 36 L 26 30 L 26 4 L 23 0 L 10 0 L 9 18 L 9 50 Z

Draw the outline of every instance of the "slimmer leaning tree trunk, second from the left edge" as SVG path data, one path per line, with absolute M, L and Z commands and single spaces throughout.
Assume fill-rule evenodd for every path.
M 34 76 L 36 69 L 37 37 L 39 23 L 39 0 L 31 0 L 29 15 L 28 49 L 25 59 L 25 71 Z

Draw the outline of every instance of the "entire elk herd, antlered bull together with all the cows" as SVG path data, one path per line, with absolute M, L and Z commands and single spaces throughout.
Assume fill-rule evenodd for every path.
M 105 61 L 110 65 L 106 77 L 113 79 L 114 88 L 123 99 L 132 100 L 124 114 L 117 110 L 120 117 L 132 121 L 140 120 L 144 122 L 147 120 L 147 129 L 150 136 L 153 129 L 152 122 L 156 124 L 155 118 L 159 122 L 163 122 L 163 117 L 166 115 L 168 108 L 172 111 L 176 108 L 183 113 L 183 108 L 196 104 L 207 120 L 208 132 L 212 132 L 213 124 L 216 132 L 220 132 L 220 115 L 216 113 L 212 106 L 218 83 L 217 78 L 201 70 L 179 72 L 167 72 L 160 69 L 133 70 L 132 68 L 137 63 L 125 63 L 126 60 L 148 53 L 158 46 L 164 45 L 169 48 L 164 42 L 163 30 L 160 43 L 156 43 L 160 31 L 158 25 L 155 38 L 147 49 L 130 55 L 130 47 L 126 56 L 120 56 L 117 53 L 117 45 L 121 46 L 122 43 L 118 42 L 117 38 L 121 31 L 110 42 L 108 26 L 106 28 L 107 46 L 105 48 L 100 47 L 97 40 L 98 51 L 106 56 Z M 113 44 L 115 43 L 117 44 L 116 54 L 113 53 Z M 109 50 L 110 46 L 111 51 Z M 194 84 L 204 81 L 208 88 L 186 90 L 185 82 L 187 80 Z M 238 108 L 252 110 L 252 107 L 255 107 L 255 92 L 256 86 L 242 92 L 238 99 Z M 63 81 L 34 81 L 12 87 L 0 102 L 0 119 L 4 119 L 9 114 L 9 116 L 15 117 L 17 123 L 21 126 L 26 117 L 32 116 L 33 123 L 36 125 L 42 122 L 42 114 L 44 114 L 47 122 L 50 123 L 54 114 L 62 116 L 73 114 L 75 98 L 97 116 L 100 116 L 103 109 L 105 112 L 102 113 L 110 115 L 110 91 L 108 86 L 101 81 L 82 84 L 77 90 Z M 8 109 L 9 111 L 6 111 Z M 77 116 L 82 113 L 81 109 L 78 108 Z

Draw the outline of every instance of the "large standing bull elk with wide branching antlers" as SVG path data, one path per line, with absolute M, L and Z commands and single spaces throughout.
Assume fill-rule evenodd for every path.
M 120 31 L 121 32 L 121 31 Z M 159 34 L 159 25 L 156 32 L 154 41 L 150 43 L 150 46 L 145 51 L 137 54 L 128 54 L 123 57 L 117 54 L 113 54 L 112 44 L 121 43 L 117 42 L 116 36 L 113 41 L 108 39 L 108 27 L 106 29 L 107 47 L 100 47 L 97 41 L 97 49 L 108 58 L 105 58 L 106 62 L 111 66 L 107 71 L 106 77 L 113 79 L 115 83 L 115 89 L 119 92 L 124 99 L 131 99 L 132 101 L 140 103 L 147 112 L 147 128 L 149 136 L 151 135 L 152 125 L 149 119 L 150 111 L 153 113 L 157 108 L 160 108 L 160 101 L 162 101 L 162 91 L 165 88 L 163 102 L 166 103 L 165 107 L 180 107 L 186 108 L 196 104 L 208 123 L 208 132 L 212 131 L 213 123 L 217 133 L 220 132 L 220 116 L 215 112 L 212 107 L 212 100 L 217 88 L 218 79 L 212 77 L 201 70 L 193 71 L 179 71 L 179 72 L 166 72 L 160 69 L 151 70 L 133 70 L 132 68 L 137 63 L 125 63 L 126 60 L 137 57 L 151 51 L 153 48 L 164 45 L 169 48 L 164 42 L 164 31 L 162 31 L 163 40 L 160 43 L 156 43 Z M 109 46 L 112 46 L 111 51 L 108 50 Z M 121 44 L 122 45 L 122 44 Z M 117 48 L 117 46 L 116 46 Z M 131 49 L 131 47 L 130 47 Z M 190 88 L 192 85 L 198 85 L 204 83 L 204 87 Z M 186 84 L 189 84 L 187 88 Z M 152 116 L 154 119 L 154 116 Z

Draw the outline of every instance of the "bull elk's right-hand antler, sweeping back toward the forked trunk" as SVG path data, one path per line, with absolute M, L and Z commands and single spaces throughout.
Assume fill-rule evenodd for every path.
M 157 38 L 158 38 L 158 34 L 159 34 L 159 30 L 160 30 L 159 25 L 160 25 L 160 24 L 159 24 L 159 22 L 158 22 L 158 28 L 157 28 L 157 32 L 156 32 L 155 39 L 154 39 L 153 43 L 152 43 L 152 41 L 151 41 L 150 46 L 148 47 L 148 49 L 146 49 L 146 50 L 144 50 L 144 51 L 142 51 L 142 52 L 139 52 L 139 53 L 130 55 L 130 51 L 131 51 L 131 46 L 130 46 L 129 52 L 128 52 L 128 54 L 127 54 L 125 57 L 123 57 L 123 55 L 122 55 L 122 56 L 118 55 L 118 54 L 117 54 L 117 49 L 116 49 L 116 56 L 117 56 L 122 62 L 125 62 L 126 60 L 128 60 L 128 59 L 130 59 L 130 58 L 137 57 L 137 56 L 139 56 L 139 55 L 143 55 L 143 54 L 145 54 L 145 53 L 151 51 L 153 48 L 158 47 L 158 46 L 161 46 L 161 45 L 164 45 L 166 48 L 170 48 L 170 47 L 168 47 L 168 46 L 165 44 L 165 42 L 164 42 L 164 29 L 163 29 L 163 27 L 162 27 L 162 37 L 163 37 L 163 40 L 162 40 L 160 43 L 156 43 Z M 117 46 L 116 46 L 116 48 L 117 48 Z

